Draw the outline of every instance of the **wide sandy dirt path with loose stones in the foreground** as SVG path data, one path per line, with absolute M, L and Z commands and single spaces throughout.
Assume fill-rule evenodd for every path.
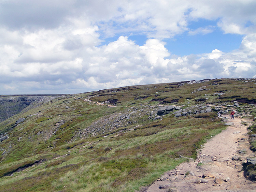
M 249 149 L 248 125 L 241 123 L 250 122 L 241 118 L 231 120 L 230 115 L 225 117 L 233 124 L 205 143 L 198 150 L 195 162 L 186 162 L 168 171 L 146 191 L 256 191 L 256 182 L 247 180 L 241 171 L 246 157 L 253 156 Z M 245 154 L 241 150 L 246 150 Z M 241 160 L 232 160 L 234 156 Z M 208 177 L 204 177 L 206 175 Z

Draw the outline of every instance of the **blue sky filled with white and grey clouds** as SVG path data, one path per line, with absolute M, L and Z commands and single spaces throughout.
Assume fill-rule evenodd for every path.
M 0 0 L 0 94 L 256 78 L 255 0 Z

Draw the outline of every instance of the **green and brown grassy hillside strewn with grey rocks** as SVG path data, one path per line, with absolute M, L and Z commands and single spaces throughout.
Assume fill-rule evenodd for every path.
M 255 117 L 255 83 L 206 79 L 45 96 L 0 123 L 1 191 L 139 190 L 225 129 L 217 110 Z

